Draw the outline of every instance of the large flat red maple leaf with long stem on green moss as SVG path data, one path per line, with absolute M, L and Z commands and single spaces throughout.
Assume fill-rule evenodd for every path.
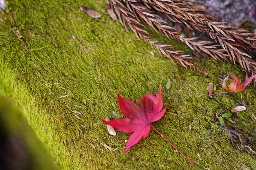
M 151 123 L 155 122 L 165 114 L 166 108 L 163 108 L 163 100 L 161 95 L 161 86 L 159 92 L 156 96 L 153 93 L 143 96 L 137 99 L 138 105 L 134 104 L 132 101 L 126 98 L 122 98 L 117 93 L 120 111 L 127 118 L 115 119 L 111 121 L 102 121 L 106 125 L 110 125 L 118 131 L 125 133 L 133 133 L 126 143 L 125 152 L 127 152 L 130 147 L 135 145 L 143 137 L 147 137 L 151 127 L 155 129 L 166 141 L 168 141 L 176 150 L 178 150 L 164 135 L 162 135 Z M 185 156 L 180 150 L 178 150 L 183 156 Z M 122 153 L 122 154 L 123 154 Z M 187 158 L 187 156 L 185 156 Z M 187 160 L 190 161 L 189 158 Z M 197 166 L 194 162 L 190 161 L 193 165 Z

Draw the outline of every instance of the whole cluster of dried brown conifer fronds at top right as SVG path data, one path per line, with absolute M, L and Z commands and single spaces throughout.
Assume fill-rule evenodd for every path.
M 210 15 L 209 11 L 198 8 L 197 4 L 182 0 L 111 0 L 111 6 L 114 7 L 126 30 L 127 23 L 138 38 L 148 41 L 151 45 L 154 44 L 157 50 L 169 57 L 172 62 L 175 59 L 180 65 L 190 66 L 190 69 L 193 67 L 200 72 L 203 71 L 190 63 L 188 60 L 191 57 L 183 55 L 183 51 L 173 53 L 174 48 L 172 46 L 153 41 L 145 31 L 145 25 L 151 26 L 156 32 L 160 32 L 164 36 L 183 42 L 199 53 L 209 54 L 216 60 L 224 59 L 233 63 L 239 62 L 242 68 L 251 72 L 252 75 L 256 74 L 256 62 L 240 49 L 244 48 L 250 52 L 256 51 L 255 34 L 219 22 Z M 177 28 L 182 26 L 188 36 L 190 36 L 190 30 L 195 29 L 207 33 L 215 42 L 197 41 L 197 38 L 181 36 L 179 30 L 173 28 L 165 19 L 176 23 Z M 216 44 L 217 42 L 218 44 Z M 255 85 L 256 79 L 254 79 Z

